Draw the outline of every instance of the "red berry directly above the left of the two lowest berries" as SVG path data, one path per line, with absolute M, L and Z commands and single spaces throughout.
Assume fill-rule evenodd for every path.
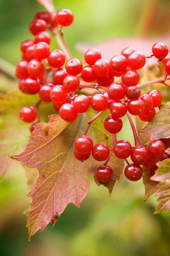
M 105 161 L 110 155 L 108 146 L 104 143 L 98 143 L 93 147 L 92 156 L 96 161 Z

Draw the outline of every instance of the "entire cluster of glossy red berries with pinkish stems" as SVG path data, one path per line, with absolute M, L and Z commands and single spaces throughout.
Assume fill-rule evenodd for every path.
M 74 16 L 70 10 L 62 9 L 57 13 L 39 12 L 30 23 L 29 29 L 34 40 L 28 39 L 21 43 L 22 59 L 16 65 L 16 77 L 20 79 L 19 89 L 23 93 L 39 93 L 40 101 L 34 106 L 25 106 L 20 111 L 20 117 L 27 123 L 32 123 L 38 117 L 38 106 L 43 102 L 53 102 L 54 110 L 66 122 L 74 122 L 78 114 L 85 113 L 91 106 L 98 113 L 88 121 L 84 135 L 76 138 L 74 156 L 80 161 L 87 160 L 91 153 L 96 161 L 106 161 L 96 170 L 96 179 L 108 182 L 112 178 L 113 170 L 107 165 L 112 152 L 120 159 L 131 157 L 133 163 L 125 168 L 125 176 L 132 181 L 139 180 L 143 165 L 155 170 L 155 163 L 160 159 L 169 157 L 164 153 L 165 144 L 169 140 L 154 140 L 149 145 L 141 146 L 131 119 L 131 115 L 139 116 L 144 121 L 150 121 L 156 114 L 155 108 L 161 105 L 161 92 L 154 89 L 141 95 L 140 87 L 155 83 L 148 81 L 139 83 L 140 70 L 145 65 L 146 58 L 153 56 L 164 66 L 161 82 L 170 79 L 170 53 L 163 43 L 156 43 L 152 47 L 151 55 L 145 57 L 143 53 L 133 47 L 125 48 L 121 54 L 113 56 L 110 61 L 103 59 L 97 49 L 89 49 L 84 55 L 85 61 L 72 58 L 69 52 L 63 27 L 73 23 Z M 50 51 L 51 36 L 46 30 L 52 32 L 61 50 Z M 60 40 L 60 35 L 62 41 Z M 65 65 L 65 68 L 63 67 Z M 80 94 L 83 88 L 93 88 L 97 93 L 93 95 Z M 87 136 L 91 123 L 105 110 L 110 115 L 104 120 L 104 128 L 113 134 L 113 147 L 104 143 L 93 146 L 92 139 Z M 126 140 L 116 141 L 116 133 L 122 127 L 121 117 L 127 115 L 135 138 L 135 147 Z M 30 131 L 34 130 L 31 125 Z

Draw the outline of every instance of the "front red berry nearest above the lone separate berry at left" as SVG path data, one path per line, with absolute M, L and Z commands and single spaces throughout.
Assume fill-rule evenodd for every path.
M 36 94 L 40 90 L 40 80 L 37 77 L 27 77 L 24 86 L 27 93 Z

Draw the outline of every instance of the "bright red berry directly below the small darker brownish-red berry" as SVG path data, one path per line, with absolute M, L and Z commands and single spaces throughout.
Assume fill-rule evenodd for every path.
M 127 103 L 127 110 L 129 111 L 130 114 L 134 116 L 137 116 L 142 112 L 144 112 L 144 108 L 145 108 L 144 102 L 141 101 L 140 99 L 130 100 Z

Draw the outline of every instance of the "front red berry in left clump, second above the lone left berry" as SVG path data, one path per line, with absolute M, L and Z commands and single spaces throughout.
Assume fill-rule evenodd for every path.
M 30 76 L 42 76 L 45 73 L 45 65 L 41 60 L 31 59 L 27 65 L 27 72 Z

